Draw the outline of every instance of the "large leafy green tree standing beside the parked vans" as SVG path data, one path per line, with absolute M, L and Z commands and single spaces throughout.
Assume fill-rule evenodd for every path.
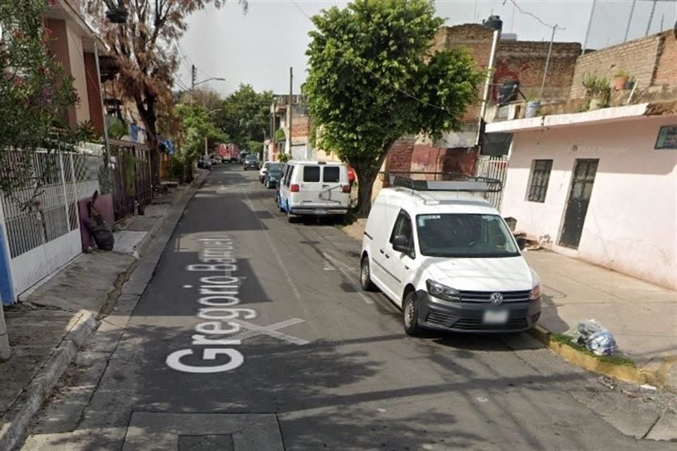
M 358 173 L 360 213 L 391 145 L 456 130 L 482 73 L 466 51 L 431 51 L 432 0 L 355 0 L 312 18 L 305 89 L 317 144 Z

